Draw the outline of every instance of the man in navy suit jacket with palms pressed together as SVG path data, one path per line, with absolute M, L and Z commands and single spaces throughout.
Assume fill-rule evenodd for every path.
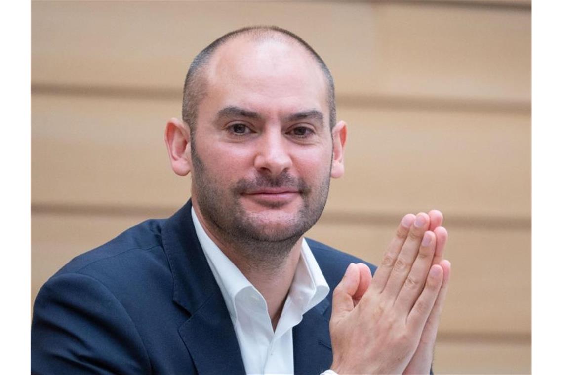
M 311 47 L 273 27 L 224 35 L 191 64 L 182 116 L 165 139 L 191 200 L 43 286 L 32 372 L 428 373 L 450 272 L 439 211 L 404 216 L 373 279 L 303 239 L 346 142 Z

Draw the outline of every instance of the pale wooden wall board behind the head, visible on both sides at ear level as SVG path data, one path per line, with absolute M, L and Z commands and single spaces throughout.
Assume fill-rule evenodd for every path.
M 35 94 L 32 109 L 34 204 L 176 207 L 189 196 L 163 141 L 180 101 Z M 338 116 L 350 128 L 346 173 L 328 212 L 529 220 L 528 115 L 342 106 Z

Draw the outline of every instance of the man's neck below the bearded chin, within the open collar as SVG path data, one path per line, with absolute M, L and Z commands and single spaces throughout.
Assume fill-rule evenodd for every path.
M 233 238 L 207 223 L 195 205 L 194 209 L 205 233 L 264 297 L 275 329 L 301 256 L 303 237 L 277 242 Z

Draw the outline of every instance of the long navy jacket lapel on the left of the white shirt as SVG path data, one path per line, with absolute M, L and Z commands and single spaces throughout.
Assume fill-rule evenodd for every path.
M 191 317 L 178 329 L 199 373 L 245 373 L 225 300 L 191 220 L 191 200 L 162 229 L 174 281 L 173 300 Z

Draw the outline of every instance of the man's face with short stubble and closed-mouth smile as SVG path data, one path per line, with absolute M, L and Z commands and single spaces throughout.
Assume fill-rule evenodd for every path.
M 192 198 L 207 224 L 244 240 L 300 237 L 328 196 L 327 84 L 287 43 L 239 38 L 213 56 L 191 149 Z

